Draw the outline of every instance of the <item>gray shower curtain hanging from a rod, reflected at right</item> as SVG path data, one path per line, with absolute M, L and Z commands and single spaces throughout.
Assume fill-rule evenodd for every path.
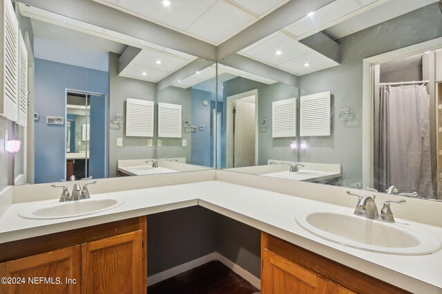
M 378 189 L 433 197 L 429 98 L 424 85 L 380 88 Z

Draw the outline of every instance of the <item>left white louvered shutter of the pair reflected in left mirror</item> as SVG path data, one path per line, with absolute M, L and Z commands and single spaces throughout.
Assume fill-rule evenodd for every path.
M 153 101 L 127 98 L 126 136 L 153 137 Z

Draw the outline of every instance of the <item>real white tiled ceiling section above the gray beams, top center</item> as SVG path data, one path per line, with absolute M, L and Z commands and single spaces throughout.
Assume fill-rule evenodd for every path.
M 289 0 L 94 0 L 219 45 Z

